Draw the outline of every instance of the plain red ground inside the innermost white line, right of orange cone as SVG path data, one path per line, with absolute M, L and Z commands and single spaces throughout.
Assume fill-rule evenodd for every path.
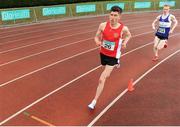
M 177 68 L 180 68 L 180 53 L 147 74 L 136 84 L 133 93 L 125 94 L 93 125 L 180 125 L 180 72 Z

